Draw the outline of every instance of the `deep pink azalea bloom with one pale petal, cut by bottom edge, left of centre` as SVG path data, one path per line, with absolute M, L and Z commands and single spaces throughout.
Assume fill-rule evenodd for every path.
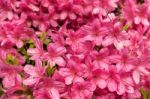
M 64 84 L 50 78 L 44 79 L 35 88 L 33 95 L 35 99 L 60 99 L 60 91 Z

